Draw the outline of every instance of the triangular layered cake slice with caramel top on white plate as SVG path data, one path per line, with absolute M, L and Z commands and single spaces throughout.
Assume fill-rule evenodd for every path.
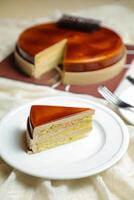
M 27 120 L 28 149 L 40 152 L 86 136 L 94 109 L 33 105 Z

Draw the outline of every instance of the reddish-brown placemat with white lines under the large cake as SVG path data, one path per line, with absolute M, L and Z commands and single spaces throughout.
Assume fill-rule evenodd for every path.
M 131 63 L 134 59 L 134 46 L 126 45 L 127 48 L 127 65 Z M 56 84 L 59 80 L 60 76 L 59 73 L 54 69 L 51 72 L 46 73 L 40 79 L 34 79 L 31 77 L 26 76 L 23 72 L 21 72 L 18 67 L 16 66 L 15 59 L 13 53 L 9 55 L 5 60 L 0 63 L 0 77 L 5 77 L 8 79 L 18 80 L 26 83 L 33 83 L 37 85 L 45 85 L 54 87 L 58 90 L 65 90 L 70 91 L 73 93 L 80 93 L 80 94 L 89 94 L 96 97 L 100 97 L 99 93 L 97 92 L 97 87 L 100 84 L 106 85 L 111 91 L 114 91 L 121 80 L 123 79 L 127 68 L 124 68 L 122 72 L 110 79 L 108 81 L 101 82 L 99 84 L 90 84 L 84 86 L 78 85 L 63 85 L 63 84 Z

